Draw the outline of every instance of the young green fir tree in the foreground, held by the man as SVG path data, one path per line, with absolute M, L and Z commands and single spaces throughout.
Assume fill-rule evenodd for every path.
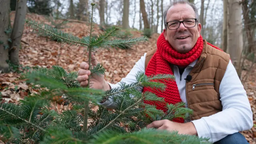
M 89 52 L 89 64 L 91 53 L 99 48 L 124 47 L 147 40 L 146 37 L 109 40 L 117 34 L 118 29 L 115 27 L 99 36 L 92 35 L 94 4 L 91 5 L 90 35 L 81 39 L 35 21 L 27 20 L 26 23 L 38 30 L 38 33 L 44 33 L 50 38 L 86 47 L 85 51 Z M 105 72 L 101 64 L 95 67 L 90 65 L 89 69 L 89 77 Z M 37 68 L 25 77 L 28 83 L 39 84 L 47 89 L 35 96 L 26 97 L 17 104 L 0 104 L 0 140 L 4 143 L 208 143 L 206 139 L 180 135 L 176 131 L 145 128 L 155 120 L 185 118 L 187 114 L 192 113 L 192 110 L 184 108 L 184 103 L 166 104 L 167 112 L 158 110 L 144 101 L 164 103 L 163 98 L 150 92 L 138 91 L 141 87 L 164 91 L 165 85 L 160 83 L 160 80 L 173 80 L 173 75 L 159 74 L 147 77 L 139 72 L 136 75 L 137 82 L 128 85 L 121 83 L 120 87 L 108 91 L 96 90 L 89 86 L 80 87 L 76 80 L 77 72 L 67 73 L 60 66 L 53 66 L 52 69 Z M 65 101 L 72 103 L 72 109 L 64 110 L 61 114 L 50 109 L 50 101 L 56 96 L 62 96 Z M 111 110 L 98 104 L 108 97 L 116 103 L 115 109 Z M 97 111 L 89 108 L 89 101 L 98 105 Z M 92 122 L 87 127 L 88 118 L 92 119 Z

